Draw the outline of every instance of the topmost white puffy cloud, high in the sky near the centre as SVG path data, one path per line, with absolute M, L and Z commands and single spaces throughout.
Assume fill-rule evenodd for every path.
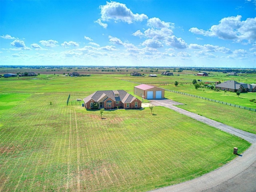
M 114 20 L 127 22 L 128 24 L 133 23 L 134 21 L 142 21 L 148 19 L 148 16 L 145 14 L 134 14 L 130 9 L 126 7 L 126 4 L 119 2 L 107 2 L 106 5 L 100 6 L 101 10 L 101 19 Z

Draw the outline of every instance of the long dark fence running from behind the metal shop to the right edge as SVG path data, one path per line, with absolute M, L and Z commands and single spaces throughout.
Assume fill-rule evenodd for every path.
M 129 82 L 132 82 L 132 81 L 129 81 Z M 132 82 L 132 83 L 145 84 L 145 83 L 139 83 L 139 82 Z M 149 83 L 149 84 L 152 84 L 152 83 Z M 192 94 L 188 94 L 188 93 L 184 93 L 184 92 L 180 92 L 180 91 L 165 89 L 165 88 L 161 88 L 161 87 L 156 87 L 156 88 L 160 88 L 160 89 L 164 89 L 165 91 L 174 92 L 174 93 L 178 93 L 178 94 L 182 94 L 182 95 L 187 95 L 187 96 L 191 96 L 191 97 L 195 97 L 195 98 L 200 98 L 200 99 L 204 99 L 204 100 L 208 100 L 208 101 L 212 101 L 212 102 L 216 102 L 216 103 L 220 103 L 220 104 L 224 104 L 224 105 L 228 105 L 228 106 L 237 107 L 237 108 L 240 108 L 240 109 L 245 109 L 245 110 L 250 110 L 250 111 L 256 112 L 256 109 L 250 108 L 250 107 L 240 106 L 240 105 L 236 105 L 236 104 L 232 104 L 232 103 L 228 103 L 228 102 L 224 102 L 224 101 L 219 101 L 219 100 L 215 100 L 215 99 L 210 99 L 210 98 L 201 97 L 201 96 L 197 96 L 197 95 L 192 95 Z

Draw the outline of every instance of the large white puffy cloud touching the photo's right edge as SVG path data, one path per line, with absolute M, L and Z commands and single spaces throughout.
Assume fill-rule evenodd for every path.
M 256 17 L 241 21 L 242 16 L 231 16 L 220 20 L 218 25 L 213 25 L 209 30 L 190 28 L 190 32 L 204 36 L 218 37 L 224 40 L 256 40 Z

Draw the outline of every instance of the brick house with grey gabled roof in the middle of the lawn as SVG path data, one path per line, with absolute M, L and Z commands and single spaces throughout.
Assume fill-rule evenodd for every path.
M 84 98 L 86 109 L 92 108 L 95 102 L 98 103 L 98 108 L 104 109 L 117 107 L 125 109 L 141 108 L 141 101 L 124 90 L 96 91 Z

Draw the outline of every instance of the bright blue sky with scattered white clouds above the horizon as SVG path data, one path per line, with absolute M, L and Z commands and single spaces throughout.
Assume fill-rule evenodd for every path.
M 0 65 L 256 68 L 256 0 L 0 0 Z

